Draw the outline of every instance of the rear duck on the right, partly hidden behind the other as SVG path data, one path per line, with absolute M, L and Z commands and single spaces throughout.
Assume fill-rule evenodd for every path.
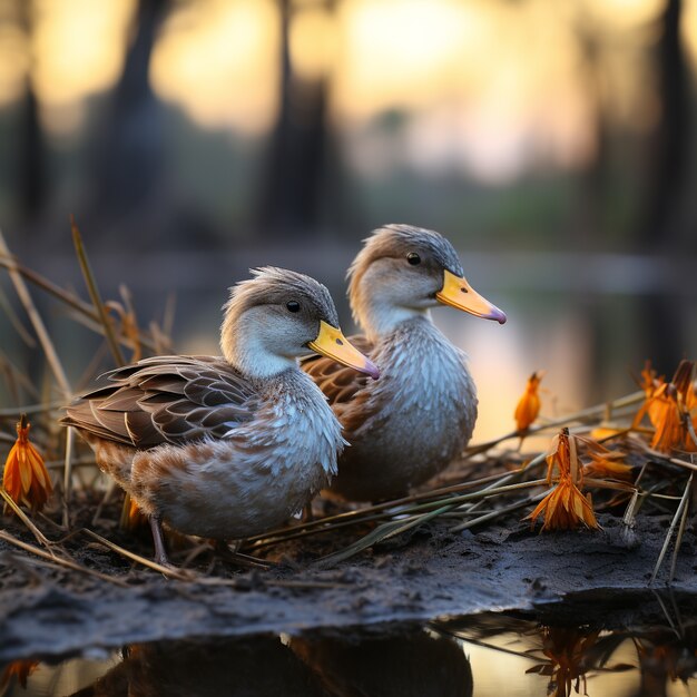
M 433 324 L 448 305 L 505 323 L 477 293 L 452 244 L 406 224 L 375 229 L 347 272 L 348 302 L 363 334 L 351 342 L 381 371 L 372 383 L 336 361 L 302 366 L 327 396 L 350 443 L 328 490 L 347 501 L 403 497 L 442 471 L 465 448 L 477 421 L 468 356 Z

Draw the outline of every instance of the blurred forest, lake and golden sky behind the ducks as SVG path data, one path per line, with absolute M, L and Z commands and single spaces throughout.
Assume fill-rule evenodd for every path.
M 438 229 L 510 317 L 435 314 L 495 435 L 533 370 L 552 415 L 697 357 L 696 77 L 697 0 L 0 0 L 0 226 L 84 292 L 75 214 L 104 295 L 176 294 L 207 352 L 249 266 L 315 275 L 351 331 L 360 240 Z M 47 313 L 79 375 L 96 340 Z

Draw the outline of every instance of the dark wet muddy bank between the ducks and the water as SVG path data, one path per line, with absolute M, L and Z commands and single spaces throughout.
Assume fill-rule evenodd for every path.
M 330 568 L 316 560 L 346 539 L 317 536 L 274 549 L 277 566 L 268 570 L 235 569 L 209 554 L 198 569 L 207 581 L 166 579 L 80 536 L 62 542 L 65 549 L 112 580 L 37 562 L 0 540 L 0 661 L 163 638 L 296 634 L 526 610 L 578 592 L 590 600 L 577 615 L 602 622 L 610 607 L 641 606 L 631 598 L 646 598 L 669 517 L 639 517 L 630 536 L 617 517 L 601 514 L 599 522 L 601 531 L 538 534 L 511 519 L 453 533 L 452 523 L 435 520 Z M 674 582 L 688 595 L 697 593 L 694 522 Z M 36 543 L 16 519 L 6 518 L 3 524 Z M 132 538 L 119 534 L 112 530 L 111 539 L 134 548 Z M 138 544 L 137 551 L 150 553 L 147 536 Z M 656 587 L 665 586 L 669 566 L 668 557 Z M 629 592 L 618 601 L 612 590 Z

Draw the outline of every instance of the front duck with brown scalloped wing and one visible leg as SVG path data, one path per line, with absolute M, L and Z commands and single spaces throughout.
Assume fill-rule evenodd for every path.
M 253 269 L 223 311 L 220 356 L 153 356 L 118 367 L 61 419 L 148 516 L 164 566 L 163 522 L 214 540 L 262 534 L 336 473 L 342 426 L 300 356 L 310 348 L 380 375 L 310 276 Z

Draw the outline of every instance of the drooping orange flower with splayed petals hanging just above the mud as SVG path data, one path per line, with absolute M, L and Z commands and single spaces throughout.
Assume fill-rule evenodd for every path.
M 562 429 L 553 439 L 547 454 L 547 483 L 557 485 L 526 517 L 532 524 L 544 512 L 542 530 L 572 530 L 583 523 L 588 528 L 599 528 L 593 513 L 590 494 L 583 495 L 583 468 L 578 457 L 579 441 L 589 444 L 592 441 L 578 435 L 569 435 L 569 429 Z M 593 446 L 602 448 L 595 443 Z M 554 478 L 554 469 L 559 475 Z

